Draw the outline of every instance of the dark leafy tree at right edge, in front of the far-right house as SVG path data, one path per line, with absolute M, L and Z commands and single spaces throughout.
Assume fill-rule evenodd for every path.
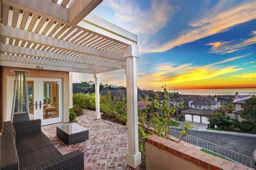
M 256 98 L 251 97 L 245 100 L 242 104 L 242 113 L 240 114 L 242 118 L 248 121 L 254 121 L 256 123 Z

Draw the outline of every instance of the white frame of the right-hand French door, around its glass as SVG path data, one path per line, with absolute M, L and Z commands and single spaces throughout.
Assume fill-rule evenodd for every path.
M 59 83 L 59 117 L 58 118 L 51 118 L 51 119 L 44 119 L 43 114 L 43 99 L 44 99 L 44 81 L 57 81 Z M 43 125 L 50 125 L 50 124 L 56 124 L 63 121 L 63 94 L 62 94 L 62 78 L 38 78 L 38 89 L 41 89 L 38 91 L 38 101 L 42 102 L 41 109 L 38 110 L 38 116 L 39 119 L 42 120 L 42 126 Z

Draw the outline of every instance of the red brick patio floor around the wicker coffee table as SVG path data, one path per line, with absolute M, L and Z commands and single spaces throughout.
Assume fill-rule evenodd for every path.
M 95 120 L 94 111 L 83 112 L 76 123 L 89 129 L 89 139 L 84 142 L 66 145 L 57 138 L 56 127 L 61 124 L 43 126 L 42 131 L 62 154 L 76 149 L 83 151 L 85 169 L 129 169 L 125 161 L 128 152 L 126 126 L 103 119 Z

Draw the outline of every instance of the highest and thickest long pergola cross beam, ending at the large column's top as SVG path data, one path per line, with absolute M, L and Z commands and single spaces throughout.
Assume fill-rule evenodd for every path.
M 1 26 L 2 26 L 2 36 L 4 37 L 23 40 L 30 43 L 52 46 L 52 47 L 56 47 L 64 50 L 87 53 L 93 56 L 99 56 L 103 58 L 114 59 L 114 60 L 125 62 L 124 57 L 116 53 L 111 53 L 111 52 L 95 49 L 93 47 L 79 45 L 76 43 L 70 43 L 65 40 L 60 40 L 54 37 L 41 35 L 35 32 L 21 30 L 19 28 L 15 28 L 9 25 L 1 24 Z

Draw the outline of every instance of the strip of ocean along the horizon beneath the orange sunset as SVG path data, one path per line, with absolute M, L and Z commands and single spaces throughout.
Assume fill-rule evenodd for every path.
M 163 91 L 159 89 L 156 91 Z M 168 89 L 170 92 L 178 92 L 180 94 L 199 94 L 199 95 L 234 95 L 238 92 L 239 95 L 256 95 L 256 88 L 239 88 L 239 89 Z

